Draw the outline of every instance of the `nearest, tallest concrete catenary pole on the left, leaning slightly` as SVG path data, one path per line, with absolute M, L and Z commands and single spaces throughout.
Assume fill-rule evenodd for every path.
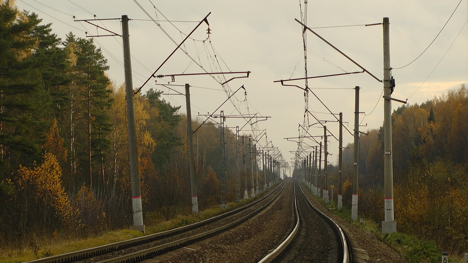
M 127 106 L 128 152 L 130 159 L 130 177 L 132 182 L 133 226 L 131 229 L 145 232 L 143 208 L 141 206 L 140 175 L 138 170 L 137 139 L 135 131 L 135 110 L 133 107 L 132 62 L 130 58 L 130 35 L 128 16 L 122 15 L 122 40 L 124 47 L 125 100 Z

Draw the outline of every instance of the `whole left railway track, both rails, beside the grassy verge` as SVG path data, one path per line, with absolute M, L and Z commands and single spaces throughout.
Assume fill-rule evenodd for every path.
M 287 182 L 246 206 L 184 227 L 27 263 L 140 262 L 200 242 L 249 220 L 278 198 Z

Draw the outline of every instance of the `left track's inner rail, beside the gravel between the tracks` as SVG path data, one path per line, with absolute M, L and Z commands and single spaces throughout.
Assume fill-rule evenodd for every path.
M 221 226 L 221 227 L 206 231 L 204 233 L 193 235 L 193 236 L 188 237 L 188 238 L 182 238 L 182 239 L 179 239 L 179 240 L 176 240 L 176 241 L 173 241 L 173 242 L 169 242 L 169 243 L 166 243 L 166 244 L 162 244 L 162 245 L 159 245 L 159 246 L 156 246 L 156 247 L 152 247 L 152 248 L 149 248 L 149 249 L 143 249 L 143 250 L 140 250 L 140 251 L 137 251 L 137 252 L 134 252 L 134 253 L 124 255 L 124 256 L 118 256 L 118 257 L 115 257 L 115 258 L 110 258 L 110 259 L 95 262 L 95 263 L 135 263 L 135 262 L 140 262 L 140 261 L 151 259 L 151 258 L 156 257 L 156 256 L 161 256 L 163 254 L 174 251 L 176 249 L 181 249 L 181 248 L 183 248 L 185 246 L 188 246 L 190 244 L 203 241 L 203 240 L 208 239 L 210 237 L 213 237 L 215 235 L 219 235 L 219 234 L 221 234 L 223 232 L 226 232 L 227 230 L 230 230 L 230 229 L 232 229 L 234 227 L 239 226 L 243 222 L 249 220 L 250 218 L 257 215 L 258 213 L 262 212 L 265 208 L 270 206 L 278 198 L 278 196 L 281 194 L 281 192 L 283 192 L 283 189 L 285 188 L 285 186 L 286 186 L 286 184 L 283 185 L 283 187 L 278 192 L 278 194 L 273 199 L 271 199 L 267 204 L 265 204 L 262 207 L 256 209 L 254 212 L 249 213 L 248 215 L 246 215 L 246 216 L 244 216 L 244 217 L 242 217 L 242 218 L 240 218 L 238 220 L 235 220 L 234 222 L 231 222 L 231 223 L 228 223 L 228 224 L 226 224 L 224 226 Z M 278 189 L 278 188 L 276 188 L 276 189 Z

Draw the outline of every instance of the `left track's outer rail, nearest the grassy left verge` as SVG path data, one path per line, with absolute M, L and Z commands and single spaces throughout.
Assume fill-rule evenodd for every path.
M 95 257 L 95 256 L 101 256 L 104 254 L 112 253 L 118 250 L 122 249 L 127 249 L 130 247 L 138 246 L 138 245 L 143 245 L 149 242 L 154 242 L 160 239 L 168 238 L 174 235 L 179 235 L 184 232 L 188 232 L 190 230 L 196 229 L 198 227 L 203 227 L 209 223 L 225 219 L 235 213 L 240 213 L 243 210 L 254 206 L 255 204 L 265 200 L 266 198 L 270 197 L 273 192 L 275 192 L 281 185 L 285 184 L 285 182 L 279 184 L 275 189 L 273 189 L 270 193 L 268 193 L 266 196 L 264 196 L 261 199 L 258 199 L 256 201 L 253 201 L 249 203 L 246 206 L 242 206 L 240 208 L 234 209 L 232 211 L 229 211 L 227 213 L 223 213 L 220 215 L 217 215 L 215 217 L 205 219 L 187 226 L 183 227 L 177 227 L 174 229 L 170 229 L 164 232 L 160 233 L 155 233 L 152 235 L 145 235 L 137 238 L 132 238 L 129 240 L 125 241 L 120 241 L 120 242 L 115 242 L 107 245 L 102 245 L 99 247 L 94 247 L 94 248 L 89 248 L 89 249 L 81 249 L 78 251 L 73 251 L 65 254 L 60 254 L 60 255 L 55 255 L 55 256 L 49 256 L 49 257 L 44 257 L 44 258 L 39 258 L 36 260 L 31 260 L 25 263 L 72 263 L 76 261 L 81 261 L 81 260 L 86 260 L 90 257 Z M 284 187 L 284 185 L 283 185 Z

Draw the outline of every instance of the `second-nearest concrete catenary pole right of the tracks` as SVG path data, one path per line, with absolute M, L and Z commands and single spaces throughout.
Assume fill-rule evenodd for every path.
M 351 198 L 351 219 L 358 220 L 358 178 L 359 178 L 359 86 L 355 88 L 354 102 L 354 154 Z

